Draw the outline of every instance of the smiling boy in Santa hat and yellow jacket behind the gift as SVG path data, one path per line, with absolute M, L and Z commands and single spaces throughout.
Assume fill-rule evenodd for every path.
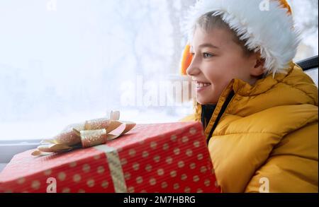
M 292 59 L 300 42 L 285 0 L 198 1 L 182 73 L 196 81 L 222 192 L 318 192 L 318 88 Z

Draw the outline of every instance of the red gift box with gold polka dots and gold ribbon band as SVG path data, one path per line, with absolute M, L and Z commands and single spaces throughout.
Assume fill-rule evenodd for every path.
M 105 144 L 34 157 L 15 155 L 1 192 L 217 193 L 199 122 L 138 124 Z

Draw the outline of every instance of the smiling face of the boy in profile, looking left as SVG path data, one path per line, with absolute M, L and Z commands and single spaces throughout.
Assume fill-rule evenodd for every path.
M 197 102 L 200 104 L 216 104 L 233 78 L 251 85 L 257 81 L 252 76 L 256 55 L 245 56 L 242 47 L 234 42 L 231 31 L 213 28 L 206 32 L 197 28 L 191 47 L 193 60 L 187 74 L 197 82 Z

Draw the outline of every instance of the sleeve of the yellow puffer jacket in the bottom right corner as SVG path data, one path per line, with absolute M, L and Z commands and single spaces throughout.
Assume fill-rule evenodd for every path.
M 255 173 L 246 192 L 318 193 L 318 122 L 285 136 Z

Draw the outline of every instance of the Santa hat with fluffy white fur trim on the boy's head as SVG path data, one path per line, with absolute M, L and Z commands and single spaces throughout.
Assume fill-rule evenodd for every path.
M 296 55 L 301 41 L 294 27 L 291 7 L 286 0 L 198 0 L 186 18 L 189 42 L 196 20 L 206 13 L 220 16 L 235 31 L 246 47 L 259 52 L 267 73 L 284 73 Z M 181 73 L 191 64 L 190 44 L 181 59 Z

